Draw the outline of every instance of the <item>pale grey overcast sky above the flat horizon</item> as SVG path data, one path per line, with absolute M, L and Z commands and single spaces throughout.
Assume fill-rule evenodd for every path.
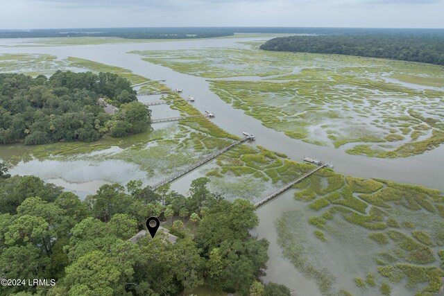
M 444 0 L 0 0 L 0 29 L 444 28 Z

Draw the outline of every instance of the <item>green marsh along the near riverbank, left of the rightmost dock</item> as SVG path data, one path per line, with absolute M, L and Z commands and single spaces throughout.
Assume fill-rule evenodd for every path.
M 22 56 L 5 58 L 18 63 Z M 56 57 L 52 57 L 55 59 Z M 68 58 L 71 67 L 91 71 L 110 71 L 131 80 L 131 83 L 144 82 L 147 79 L 135 76 L 127 69 L 112 67 L 99 62 L 79 58 Z M 151 82 L 142 87 L 144 90 L 168 90 L 161 82 Z M 176 101 L 178 94 L 169 94 L 163 99 L 171 101 L 170 107 L 182 115 L 200 114 L 189 103 Z M 110 101 L 108 99 L 108 101 Z M 115 101 L 115 100 L 114 100 Z M 110 103 L 119 105 L 119 103 Z M 154 107 L 155 108 L 155 107 Z M 155 109 L 154 109 L 155 112 Z M 146 130 L 127 137 L 101 137 L 93 143 L 63 142 L 24 148 L 17 144 L 6 146 L 3 158 L 11 164 L 21 160 L 89 159 L 92 162 L 107 159 L 120 159 L 137 164 L 146 172 L 147 177 L 162 177 L 173 173 L 177 168 L 198 162 L 200 157 L 228 146 L 239 137 L 228 134 L 205 118 L 172 123 L 166 128 Z M 110 148 L 119 147 L 117 152 Z M 103 151 L 103 153 L 101 153 Z M 94 152 L 94 155 L 90 153 Z M 274 153 L 264 148 L 241 145 L 224 153 L 214 162 L 205 166 L 202 173 L 212 179 L 212 186 L 227 196 L 243 198 L 261 198 L 266 191 L 273 191 L 278 186 L 289 182 L 309 170 L 311 166 L 290 162 L 285 155 Z M 248 186 L 244 186 L 248 184 Z M 255 194 L 252 194 L 255 193 Z

